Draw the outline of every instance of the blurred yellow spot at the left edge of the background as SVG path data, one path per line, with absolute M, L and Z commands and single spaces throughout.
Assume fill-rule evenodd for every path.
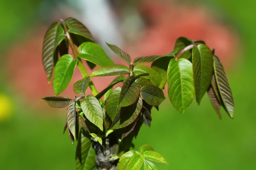
M 11 115 L 11 98 L 0 94 L 0 121 L 8 119 Z

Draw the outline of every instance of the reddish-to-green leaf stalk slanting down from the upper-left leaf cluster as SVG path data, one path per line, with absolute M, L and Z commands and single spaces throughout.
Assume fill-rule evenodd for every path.
M 62 25 L 63 28 L 64 28 L 64 32 L 65 32 L 65 34 L 66 34 L 66 36 L 67 36 L 67 41 L 68 41 L 68 43 L 69 43 L 69 45 L 70 45 L 70 48 L 71 48 L 71 50 L 72 50 L 72 53 L 73 53 L 74 57 L 75 57 L 76 59 L 78 59 L 77 65 L 78 65 L 78 68 L 79 68 L 81 74 L 83 75 L 83 77 L 89 76 L 89 74 L 88 74 L 86 68 L 84 67 L 84 64 L 83 64 L 82 60 L 78 57 L 79 53 L 78 53 L 78 51 L 76 50 L 75 44 L 74 44 L 72 38 L 70 37 L 70 34 L 69 34 L 69 32 L 68 32 L 68 29 L 67 29 L 67 26 L 66 26 L 66 24 L 63 22 L 63 20 L 61 20 L 61 25 Z M 90 82 L 89 82 L 89 87 L 90 87 L 90 89 L 91 89 L 93 95 L 96 96 L 96 95 L 98 94 L 98 91 L 97 91 L 97 89 L 96 89 L 96 87 L 95 87 L 95 85 L 93 84 L 93 82 L 92 82 L 91 79 L 90 79 Z M 99 102 L 100 102 L 100 104 L 103 104 L 102 99 L 99 99 Z

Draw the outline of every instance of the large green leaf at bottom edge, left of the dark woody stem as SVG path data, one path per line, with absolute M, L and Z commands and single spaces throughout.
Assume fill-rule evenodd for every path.
M 76 146 L 76 170 L 93 170 L 96 167 L 96 152 L 90 141 L 90 135 L 80 130 Z

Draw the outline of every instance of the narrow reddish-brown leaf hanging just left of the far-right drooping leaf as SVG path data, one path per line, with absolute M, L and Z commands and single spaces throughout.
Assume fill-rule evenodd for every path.
M 220 94 L 217 90 L 217 84 L 215 81 L 215 76 L 212 75 L 212 83 L 208 89 L 208 95 L 210 101 L 212 103 L 213 108 L 215 109 L 216 113 L 218 114 L 219 119 L 222 119 L 221 111 L 220 111 Z

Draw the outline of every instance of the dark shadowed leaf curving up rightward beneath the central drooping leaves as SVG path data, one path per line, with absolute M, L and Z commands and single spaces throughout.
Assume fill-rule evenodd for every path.
M 119 129 L 133 123 L 140 114 L 142 104 L 142 99 L 139 97 L 134 104 L 121 108 L 113 119 L 111 129 Z

